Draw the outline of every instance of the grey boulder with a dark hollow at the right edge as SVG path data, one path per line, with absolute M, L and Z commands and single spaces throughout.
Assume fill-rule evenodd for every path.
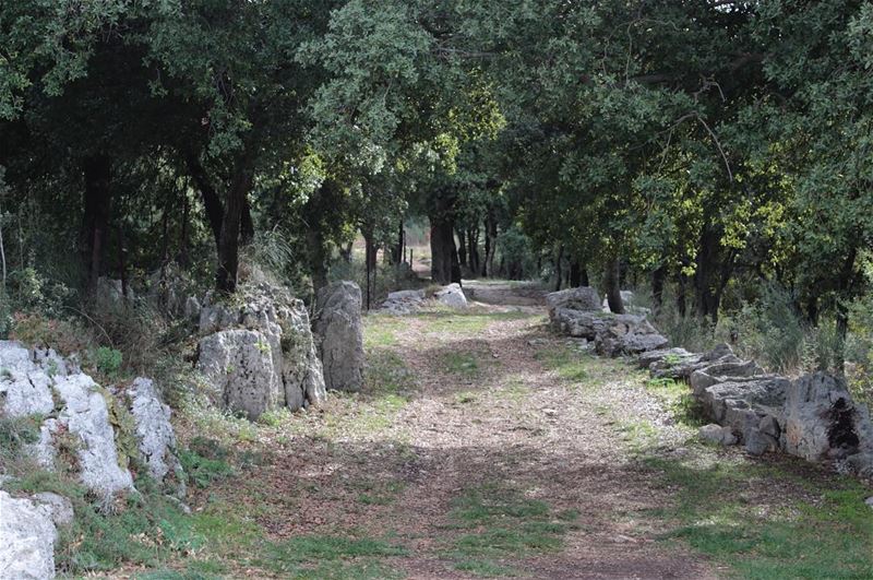
M 791 382 L 785 403 L 785 450 L 810 461 L 873 451 L 866 407 L 858 406 L 841 378 L 824 372 Z

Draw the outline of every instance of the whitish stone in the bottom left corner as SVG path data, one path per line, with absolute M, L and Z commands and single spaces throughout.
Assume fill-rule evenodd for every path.
M 50 511 L 29 499 L 16 499 L 0 492 L 0 578 L 55 578 L 58 531 Z

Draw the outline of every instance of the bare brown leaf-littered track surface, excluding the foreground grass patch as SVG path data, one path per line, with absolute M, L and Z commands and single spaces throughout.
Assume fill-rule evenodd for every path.
M 476 291 L 480 297 L 481 292 Z M 343 417 L 359 413 L 354 405 L 313 414 L 321 427 L 334 417 L 330 435 L 297 437 L 292 453 L 254 474 L 274 487 L 268 496 L 295 498 L 292 509 L 276 505 L 262 518 L 271 532 L 277 537 L 348 529 L 393 534 L 409 556 L 391 564 L 408 577 L 467 578 L 445 555 L 453 500 L 464 489 L 497 484 L 579 514 L 561 552 L 512 559 L 523 577 L 714 577 L 697 556 L 655 542 L 662 530 L 642 514 L 670 498 L 649 485 L 651 475 L 622 441 L 615 417 L 643 415 L 660 423 L 671 445 L 687 434 L 671 433 L 657 401 L 639 388 L 638 375 L 621 363 L 598 366 L 596 388 L 546 370 L 537 353 L 560 347 L 562 339 L 546 329 L 537 292 L 485 288 L 504 305 L 475 306 L 469 316 L 486 319 L 480 325 L 444 311 L 403 318 L 386 348 L 415 378 L 409 402 L 366 433 Z M 475 357 L 471 372 L 458 374 L 446 363 L 458 353 Z M 361 488 L 392 485 L 400 490 L 391 501 L 359 501 Z

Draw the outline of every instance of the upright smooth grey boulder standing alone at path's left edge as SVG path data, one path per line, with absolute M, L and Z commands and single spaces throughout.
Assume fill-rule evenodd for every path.
M 464 304 L 466 306 L 466 299 Z M 325 386 L 337 391 L 360 391 L 363 387 L 363 327 L 361 289 L 357 284 L 336 282 L 319 291 L 314 330 Z

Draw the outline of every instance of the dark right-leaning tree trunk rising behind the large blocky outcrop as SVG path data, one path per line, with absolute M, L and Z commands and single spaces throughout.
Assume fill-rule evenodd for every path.
M 218 242 L 218 270 L 215 289 L 220 294 L 232 294 L 237 289 L 239 271 L 240 224 L 246 208 L 246 196 L 254 180 L 253 159 L 243 154 L 234 164 L 234 177 L 227 192 L 222 235 Z

